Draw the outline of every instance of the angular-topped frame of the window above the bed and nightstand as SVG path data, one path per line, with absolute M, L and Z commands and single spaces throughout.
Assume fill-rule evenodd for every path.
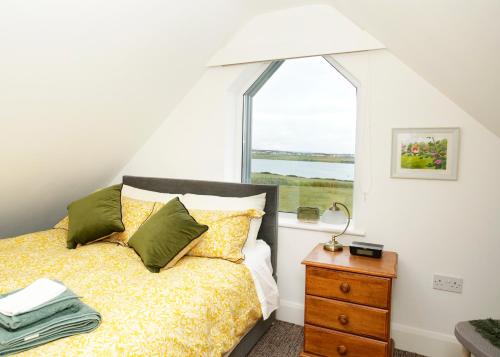
M 315 56 L 316 57 L 316 56 Z M 319 56 L 318 56 L 319 57 Z M 357 211 L 356 204 L 359 203 L 357 195 L 358 177 L 358 157 L 359 157 L 359 138 L 360 138 L 360 116 L 361 116 L 361 85 L 340 63 L 334 60 L 331 56 L 321 56 L 328 62 L 333 69 L 338 71 L 346 80 L 348 80 L 356 90 L 356 135 L 355 135 L 355 164 L 354 164 L 354 181 L 353 181 L 353 212 L 354 218 Z M 281 67 L 286 59 L 272 61 L 259 77 L 251 84 L 251 86 L 243 93 L 243 120 L 242 120 L 242 155 L 241 155 L 241 182 L 251 183 L 251 160 L 252 160 L 252 102 L 253 97 L 273 76 L 273 74 Z M 279 212 L 283 215 L 283 212 Z M 286 215 L 290 215 L 287 213 Z M 348 232 L 349 233 L 349 232 Z

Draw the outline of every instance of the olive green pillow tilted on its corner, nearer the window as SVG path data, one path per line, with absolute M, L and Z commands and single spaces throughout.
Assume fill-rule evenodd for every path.
M 143 223 L 128 245 L 149 271 L 158 273 L 165 266 L 173 267 L 207 230 L 208 226 L 198 224 L 176 197 Z

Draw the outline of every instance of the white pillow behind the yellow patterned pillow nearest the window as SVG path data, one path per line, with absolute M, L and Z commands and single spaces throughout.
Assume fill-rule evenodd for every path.
M 266 205 L 266 193 L 248 197 L 220 197 L 210 195 L 195 195 L 186 193 L 180 197 L 181 202 L 187 209 L 219 210 L 219 211 L 244 211 L 247 209 L 258 209 L 264 211 Z M 245 247 L 252 248 L 257 241 L 261 218 L 253 218 L 248 230 L 248 238 Z

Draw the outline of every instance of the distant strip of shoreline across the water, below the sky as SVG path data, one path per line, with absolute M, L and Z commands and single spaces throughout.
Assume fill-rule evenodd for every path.
M 354 155 L 352 154 L 322 154 L 272 150 L 252 150 L 252 159 L 354 164 Z

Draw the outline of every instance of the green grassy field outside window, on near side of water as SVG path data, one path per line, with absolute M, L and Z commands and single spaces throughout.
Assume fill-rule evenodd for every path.
M 252 183 L 280 185 L 281 212 L 297 212 L 299 206 L 318 207 L 322 213 L 333 201 L 352 212 L 352 181 L 309 179 L 271 173 L 252 173 Z

